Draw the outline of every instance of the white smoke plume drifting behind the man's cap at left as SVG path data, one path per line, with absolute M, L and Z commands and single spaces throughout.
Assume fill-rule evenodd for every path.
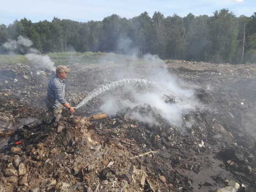
M 56 67 L 54 67 L 54 62 L 50 60 L 50 57 L 48 55 L 38 54 L 39 50 L 31 48 L 32 45 L 33 42 L 29 38 L 23 37 L 22 35 L 19 35 L 17 41 L 8 39 L 8 41 L 3 44 L 4 48 L 10 50 L 11 52 L 18 49 L 22 53 L 27 53 L 25 54 L 25 57 L 28 61 L 30 61 L 30 63 L 41 68 L 55 71 Z

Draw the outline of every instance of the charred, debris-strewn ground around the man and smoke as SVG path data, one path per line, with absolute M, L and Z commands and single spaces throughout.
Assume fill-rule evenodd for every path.
M 225 180 L 245 184 L 240 191 L 254 191 L 255 66 L 182 61 L 164 65 L 181 87 L 193 89 L 203 106 L 184 115 L 182 126 L 168 123 L 148 104 L 88 122 L 83 115 L 98 112 L 102 100 L 96 98 L 77 116 L 64 117 L 64 129 L 56 133 L 43 102 L 51 72 L 1 64 L 0 131 L 18 129 L 0 140 L 0 191 L 210 192 L 225 187 Z M 144 64 L 131 61 L 124 66 L 110 59 L 70 67 L 67 98 L 73 105 L 99 84 L 117 80 L 124 67 L 131 73 L 122 78 L 144 78 L 148 71 Z M 134 111 L 153 114 L 156 124 L 132 120 L 129 114 Z M 157 153 L 132 158 L 149 151 Z M 24 174 L 15 172 L 22 169 L 20 163 Z

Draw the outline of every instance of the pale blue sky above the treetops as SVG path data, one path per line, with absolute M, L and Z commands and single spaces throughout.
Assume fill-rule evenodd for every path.
M 53 17 L 80 22 L 102 20 L 112 14 L 132 18 L 147 11 L 150 16 L 160 11 L 165 16 L 212 15 L 228 8 L 237 16 L 256 12 L 256 0 L 1 0 L 0 24 L 9 25 L 26 17 L 32 22 L 51 21 Z

